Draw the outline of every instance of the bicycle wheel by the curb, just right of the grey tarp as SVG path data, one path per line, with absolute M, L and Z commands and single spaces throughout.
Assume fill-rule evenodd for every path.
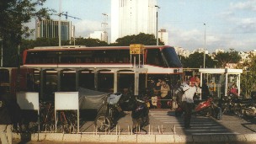
M 94 124 L 96 126 L 96 129 L 100 132 L 109 131 L 111 127 L 111 120 L 107 116 L 99 115 L 94 121 Z

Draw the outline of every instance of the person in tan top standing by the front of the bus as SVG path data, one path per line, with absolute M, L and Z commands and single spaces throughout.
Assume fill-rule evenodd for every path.
M 165 109 L 167 108 L 167 99 L 168 99 L 168 92 L 170 91 L 170 87 L 168 85 L 168 83 L 166 83 L 165 81 L 162 81 L 162 85 L 161 85 L 161 105 L 162 108 Z

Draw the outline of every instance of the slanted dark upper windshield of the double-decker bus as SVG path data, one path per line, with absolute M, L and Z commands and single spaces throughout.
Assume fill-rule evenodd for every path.
M 175 50 L 171 47 L 163 48 L 163 57 L 165 59 L 166 65 L 168 67 L 182 67 L 179 57 L 177 56 Z

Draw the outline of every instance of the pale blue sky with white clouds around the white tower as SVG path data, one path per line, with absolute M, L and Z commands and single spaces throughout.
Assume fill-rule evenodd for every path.
M 46 0 L 44 7 L 58 13 L 60 2 L 62 12 L 79 18 L 68 18 L 76 27 L 76 37 L 103 30 L 103 13 L 108 14 L 110 39 L 111 0 Z M 256 0 L 157 0 L 157 6 L 158 29 L 168 31 L 166 45 L 189 51 L 256 50 Z

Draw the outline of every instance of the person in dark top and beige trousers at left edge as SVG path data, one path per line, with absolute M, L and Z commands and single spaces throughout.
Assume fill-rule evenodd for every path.
M 6 90 L 0 88 L 0 138 L 2 144 L 11 144 L 13 141 L 13 124 L 6 96 Z

